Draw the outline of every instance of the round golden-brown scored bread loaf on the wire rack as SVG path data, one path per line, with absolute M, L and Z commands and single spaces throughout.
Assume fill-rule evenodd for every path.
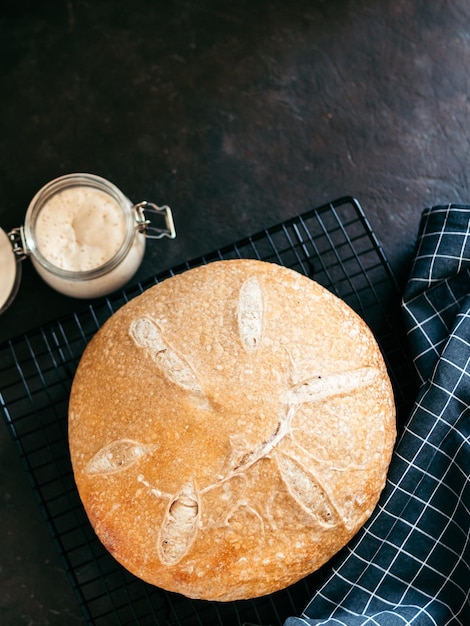
M 395 409 L 366 324 L 276 264 L 217 261 L 150 288 L 77 369 L 78 490 L 136 576 L 228 601 L 320 567 L 370 516 Z

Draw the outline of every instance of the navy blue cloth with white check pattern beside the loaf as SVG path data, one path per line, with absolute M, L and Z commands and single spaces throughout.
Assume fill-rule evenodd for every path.
M 370 520 L 285 626 L 470 626 L 470 206 L 426 209 L 403 297 L 421 389 Z

